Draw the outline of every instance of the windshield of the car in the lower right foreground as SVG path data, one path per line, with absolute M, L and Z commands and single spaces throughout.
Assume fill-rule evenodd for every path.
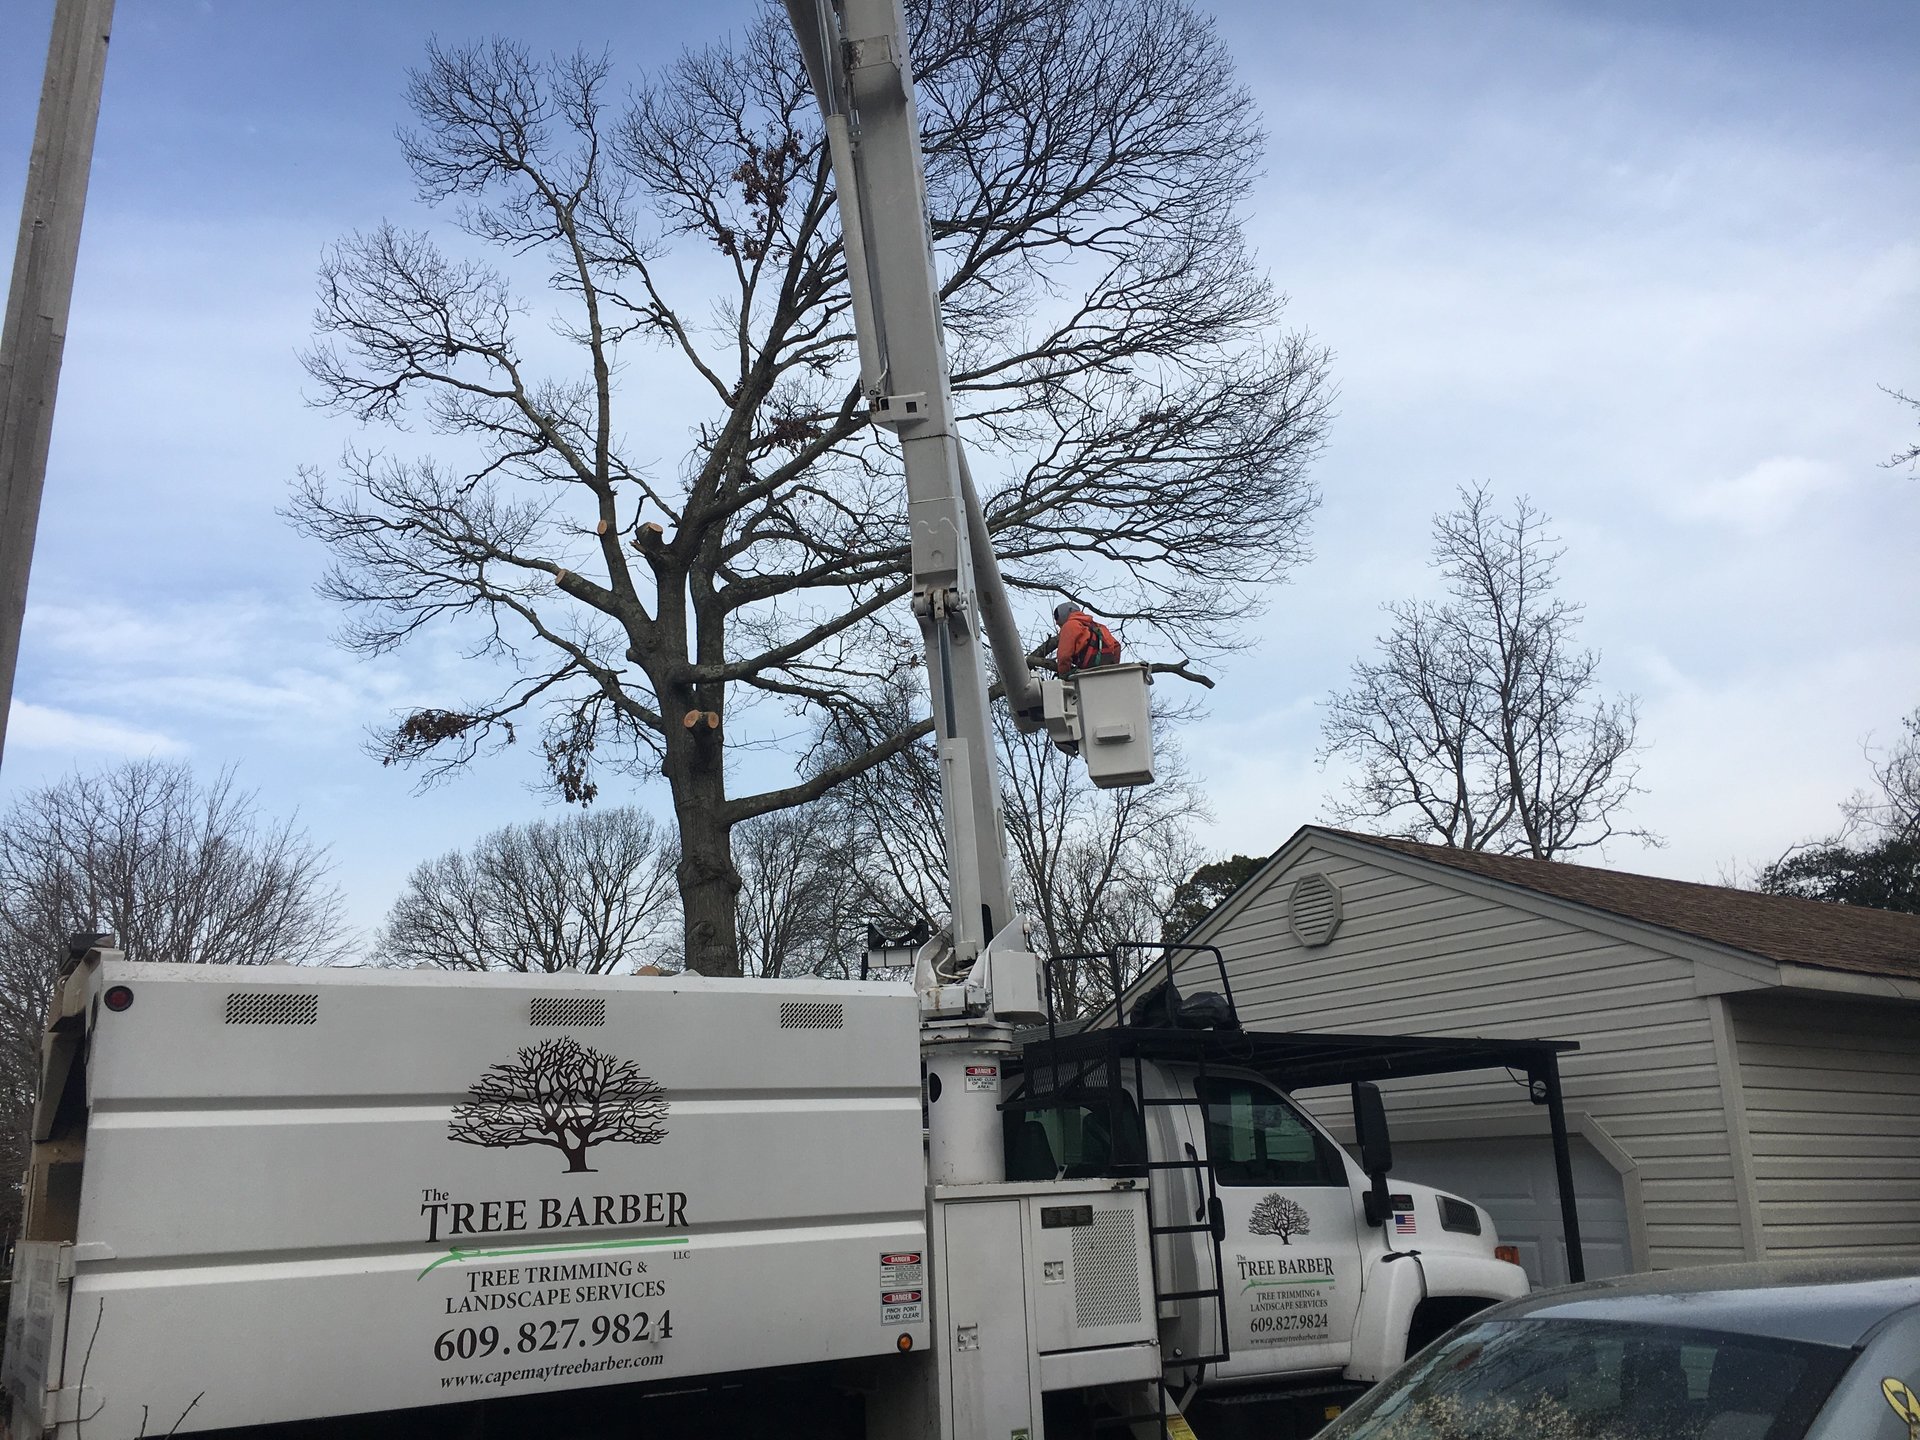
M 1851 1352 L 1617 1321 L 1484 1321 L 1323 1440 L 1799 1440 Z

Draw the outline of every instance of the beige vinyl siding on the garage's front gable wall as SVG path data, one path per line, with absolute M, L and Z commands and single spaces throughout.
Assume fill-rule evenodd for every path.
M 1315 870 L 1340 887 L 1342 922 L 1332 943 L 1308 948 L 1286 925 L 1286 897 Z M 1634 1160 L 1651 1263 L 1740 1260 L 1734 1162 L 1693 966 L 1586 929 L 1553 914 L 1553 902 L 1509 900 L 1498 887 L 1427 870 L 1309 845 L 1267 876 L 1215 933 L 1202 933 L 1227 956 L 1242 1020 L 1580 1041 L 1561 1062 L 1567 1108 L 1592 1116 Z M 1524 1089 L 1500 1071 L 1382 1089 L 1396 1123 L 1438 1121 L 1457 1137 L 1515 1116 L 1544 1127 Z M 1315 1098 L 1315 1108 L 1334 1121 L 1346 1100 Z

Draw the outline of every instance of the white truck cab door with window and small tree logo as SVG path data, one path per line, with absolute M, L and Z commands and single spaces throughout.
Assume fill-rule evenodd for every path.
M 1227 1221 L 1221 1267 L 1233 1357 L 1213 1375 L 1344 1367 L 1361 1288 L 1346 1160 L 1258 1077 L 1212 1073 L 1190 1083 Z

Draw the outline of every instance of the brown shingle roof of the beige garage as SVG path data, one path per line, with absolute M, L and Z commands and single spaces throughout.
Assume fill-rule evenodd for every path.
M 1308 826 L 1308 831 L 1315 829 L 1323 828 Z M 1455 851 L 1352 829 L 1323 829 L 1323 833 L 1695 935 L 1780 964 L 1920 979 L 1920 916 L 1632 876 L 1624 870 L 1574 866 L 1563 860 Z

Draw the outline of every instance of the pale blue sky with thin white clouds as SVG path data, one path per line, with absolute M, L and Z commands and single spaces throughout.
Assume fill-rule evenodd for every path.
M 1206 6 L 1202 6 L 1206 8 Z M 1323 820 L 1323 705 L 1436 595 L 1436 511 L 1524 493 L 1565 543 L 1601 684 L 1647 743 L 1603 864 L 1718 881 L 1837 824 L 1920 705 L 1920 8 L 1350 0 L 1212 6 L 1269 131 L 1246 228 L 1334 353 L 1313 559 L 1179 743 L 1202 841 Z M 457 649 L 363 660 L 280 518 L 355 426 L 305 403 L 323 248 L 420 225 L 394 129 L 432 36 L 607 48 L 737 31 L 705 6 L 119 0 L 0 804 L 119 758 L 234 766 L 330 847 L 371 929 L 419 860 L 553 812 L 518 747 L 417 793 L 369 728 L 474 693 Z M 52 0 L 0 8 L 17 213 Z M 647 420 L 684 445 L 672 405 Z M 484 680 L 484 678 L 482 678 Z M 776 764 L 760 760 L 760 764 Z M 662 808 L 614 781 L 603 801 Z

